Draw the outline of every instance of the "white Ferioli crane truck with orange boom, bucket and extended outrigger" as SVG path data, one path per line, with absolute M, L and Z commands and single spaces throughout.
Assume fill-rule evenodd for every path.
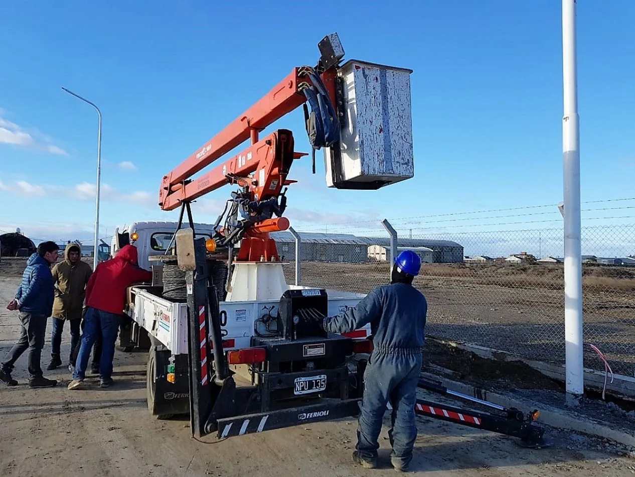
M 218 438 L 359 413 L 373 350 L 369 326 L 328 334 L 319 319 L 354 307 L 363 294 L 287 284 L 271 233 L 289 228 L 286 188 L 293 133 L 260 133 L 303 106 L 315 172 L 323 149 L 328 187 L 378 190 L 413 177 L 409 69 L 342 63 L 337 34 L 318 44 L 315 66 L 295 67 L 262 99 L 163 176 L 159 206 L 177 223 L 133 223 L 112 249 L 133 244 L 151 284 L 128 289 L 130 326 L 121 340 L 149 349 L 147 402 L 158 418 L 190 416 L 192 436 Z M 308 105 L 307 105 L 308 103 Z M 250 145 L 197 177 L 245 141 Z M 194 223 L 190 204 L 237 186 L 214 224 Z M 187 221 L 185 221 L 187 220 Z M 545 446 L 538 411 L 504 408 L 420 380 L 427 391 L 485 406 L 417 399 L 415 412 Z

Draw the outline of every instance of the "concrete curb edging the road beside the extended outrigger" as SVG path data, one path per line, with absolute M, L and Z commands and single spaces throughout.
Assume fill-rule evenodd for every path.
M 506 408 L 518 408 L 521 410 L 540 410 L 540 418 L 538 424 L 546 424 L 551 427 L 559 427 L 561 429 L 570 429 L 571 431 L 582 432 L 590 436 L 610 439 L 616 443 L 635 447 L 635 436 L 627 434 L 627 432 L 612 429 L 610 424 L 600 420 L 589 420 L 582 418 L 566 410 L 554 408 L 541 403 L 525 401 L 515 397 L 502 396 L 495 392 L 486 391 L 469 384 L 459 383 L 447 378 L 440 377 L 431 373 L 422 372 L 421 376 L 435 381 L 440 381 L 445 387 L 451 391 L 467 394 L 467 396 L 478 397 L 485 401 L 505 406 Z M 537 405 L 538 404 L 538 405 Z

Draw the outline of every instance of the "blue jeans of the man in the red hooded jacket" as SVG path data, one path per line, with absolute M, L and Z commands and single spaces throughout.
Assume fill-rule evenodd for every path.
M 112 359 L 115 355 L 115 343 L 119 333 L 121 315 L 97 310 L 89 307 L 84 318 L 84 334 L 81 338 L 81 348 L 77 356 L 77 365 L 73 373 L 73 379 L 84 379 L 90 349 L 102 333 L 102 356 L 99 362 L 99 377 L 109 380 L 112 375 Z

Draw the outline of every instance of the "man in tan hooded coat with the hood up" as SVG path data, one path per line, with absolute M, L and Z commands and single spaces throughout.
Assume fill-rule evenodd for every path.
M 86 284 L 93 270 L 88 263 L 81 260 L 81 247 L 70 243 L 64 251 L 64 261 L 57 263 L 51 270 L 53 284 L 55 284 L 55 301 L 53 302 L 53 333 L 51 334 L 51 363 L 48 370 L 55 370 L 62 365 L 60 346 L 62 343 L 62 331 L 64 323 L 70 326 L 70 358 L 72 363 L 72 350 L 79 342 L 79 324 L 81 323 L 86 296 Z

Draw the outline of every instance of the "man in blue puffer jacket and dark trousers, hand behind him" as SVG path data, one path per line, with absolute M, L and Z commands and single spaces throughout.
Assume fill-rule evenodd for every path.
M 46 379 L 42 375 L 40 357 L 44 347 L 46 321 L 53 312 L 53 276 L 51 263 L 57 261 L 60 247 L 55 242 L 42 242 L 37 253 L 27 260 L 27 268 L 22 274 L 22 283 L 18 287 L 15 299 L 7 305 L 8 310 L 18 310 L 22 333 L 1 364 L 0 381 L 8 386 L 18 382 L 11 377 L 13 364 L 29 349 L 29 387 L 51 387 L 56 380 Z

